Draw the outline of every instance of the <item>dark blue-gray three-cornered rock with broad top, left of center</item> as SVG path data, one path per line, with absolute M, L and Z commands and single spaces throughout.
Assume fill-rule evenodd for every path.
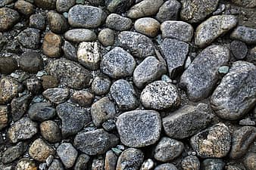
M 61 132 L 64 138 L 81 131 L 83 126 L 91 121 L 86 109 L 76 107 L 73 104 L 59 104 L 56 110 L 58 116 L 61 118 Z

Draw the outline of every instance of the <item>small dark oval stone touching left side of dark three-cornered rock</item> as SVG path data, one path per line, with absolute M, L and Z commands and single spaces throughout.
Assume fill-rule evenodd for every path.
M 28 113 L 30 119 L 43 122 L 52 119 L 56 114 L 56 110 L 50 103 L 36 103 L 30 106 Z

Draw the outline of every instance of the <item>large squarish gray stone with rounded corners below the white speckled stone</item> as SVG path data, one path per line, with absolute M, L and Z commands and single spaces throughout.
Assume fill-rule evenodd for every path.
M 133 110 L 117 117 L 120 141 L 128 147 L 155 144 L 161 134 L 161 116 L 154 110 Z

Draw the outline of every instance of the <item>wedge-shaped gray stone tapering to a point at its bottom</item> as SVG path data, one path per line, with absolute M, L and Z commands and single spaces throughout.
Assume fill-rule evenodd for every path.
M 167 61 L 167 68 L 171 78 L 175 78 L 183 70 L 189 53 L 189 44 L 176 39 L 164 39 L 160 45 L 162 54 Z

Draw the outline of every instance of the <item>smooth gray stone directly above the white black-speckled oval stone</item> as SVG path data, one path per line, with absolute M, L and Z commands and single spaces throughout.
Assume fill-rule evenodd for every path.
M 155 57 L 146 57 L 133 72 L 133 82 L 137 88 L 143 88 L 150 82 L 160 79 L 167 72 L 165 63 Z

